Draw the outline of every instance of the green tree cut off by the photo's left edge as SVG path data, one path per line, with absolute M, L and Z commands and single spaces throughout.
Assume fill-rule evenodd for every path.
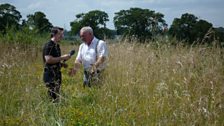
M 6 4 L 0 4 L 0 31 L 6 32 L 6 28 L 19 28 L 19 21 L 22 18 L 16 7 Z

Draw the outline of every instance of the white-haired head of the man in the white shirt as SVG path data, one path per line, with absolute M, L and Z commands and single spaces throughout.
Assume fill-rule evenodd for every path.
M 94 38 L 93 35 L 93 29 L 89 26 L 83 27 L 80 30 L 80 38 L 82 39 L 82 41 L 84 41 L 86 44 L 90 44 L 91 41 Z

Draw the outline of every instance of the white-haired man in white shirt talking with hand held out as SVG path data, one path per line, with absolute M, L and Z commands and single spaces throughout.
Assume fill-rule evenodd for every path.
M 99 40 L 94 36 L 93 29 L 89 26 L 80 30 L 80 38 L 84 43 L 79 46 L 74 68 L 70 69 L 69 74 L 75 75 L 81 64 L 83 64 L 83 86 L 88 85 L 90 87 L 89 78 L 91 74 L 100 73 L 106 67 L 105 61 L 108 56 L 108 49 L 103 40 Z

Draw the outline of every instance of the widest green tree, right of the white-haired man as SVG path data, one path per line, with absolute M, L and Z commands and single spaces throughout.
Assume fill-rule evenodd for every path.
M 166 22 L 164 15 L 149 9 L 130 8 L 115 13 L 117 34 L 136 37 L 141 42 L 162 33 Z

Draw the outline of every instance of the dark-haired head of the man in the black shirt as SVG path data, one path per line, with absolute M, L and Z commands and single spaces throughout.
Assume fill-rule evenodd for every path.
M 53 27 L 51 29 L 51 39 L 55 42 L 59 42 L 64 37 L 64 29 L 60 27 Z

